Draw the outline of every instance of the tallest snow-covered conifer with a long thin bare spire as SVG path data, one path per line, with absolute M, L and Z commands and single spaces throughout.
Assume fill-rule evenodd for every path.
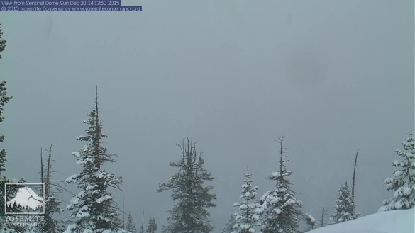
M 114 155 L 102 147 L 106 137 L 99 119 L 98 91 L 95 95 L 94 109 L 84 120 L 88 125 L 87 135 L 77 137 L 77 140 L 87 142 L 84 149 L 72 154 L 77 164 L 82 165 L 82 171 L 67 178 L 68 183 L 76 183 L 81 189 L 67 205 L 68 210 L 74 210 L 71 217 L 74 224 L 69 225 L 65 232 L 117 232 L 121 228 L 121 220 L 116 211 L 116 203 L 108 188 L 118 188 L 121 177 L 104 169 L 106 162 L 114 162 Z

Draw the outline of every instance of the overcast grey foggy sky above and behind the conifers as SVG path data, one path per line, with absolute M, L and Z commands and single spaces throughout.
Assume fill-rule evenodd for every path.
M 199 140 L 216 177 L 211 220 L 220 232 L 246 166 L 259 193 L 273 188 L 285 136 L 292 188 L 304 211 L 333 212 L 360 149 L 363 215 L 392 197 L 395 149 L 414 131 L 414 1 L 140 1 L 135 13 L 2 13 L 1 79 L 13 99 L 0 131 L 6 175 L 37 182 L 40 147 L 53 143 L 55 177 L 77 173 L 82 120 L 95 86 L 118 203 L 137 225 L 165 224 L 170 193 L 156 193 Z M 77 191 L 74 186 L 68 186 Z M 70 200 L 67 197 L 67 201 Z

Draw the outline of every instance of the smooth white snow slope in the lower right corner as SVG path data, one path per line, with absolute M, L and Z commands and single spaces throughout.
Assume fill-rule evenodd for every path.
M 357 220 L 314 229 L 309 233 L 414 233 L 415 209 L 378 212 Z

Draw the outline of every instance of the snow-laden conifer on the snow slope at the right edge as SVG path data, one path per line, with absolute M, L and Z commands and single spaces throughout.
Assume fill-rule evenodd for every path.
M 394 198 L 384 200 L 380 211 L 415 208 L 415 139 L 409 132 L 407 136 L 402 142 L 404 149 L 395 151 L 402 160 L 392 163 L 397 168 L 394 176 L 384 181 L 387 190 L 394 191 Z

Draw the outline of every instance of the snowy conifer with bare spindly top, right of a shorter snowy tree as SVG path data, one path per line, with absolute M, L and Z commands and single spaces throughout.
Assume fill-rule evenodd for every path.
M 269 179 L 275 181 L 275 189 L 267 191 L 260 198 L 260 208 L 263 233 L 297 233 L 299 232 L 299 220 L 303 217 L 301 211 L 302 202 L 295 198 L 295 193 L 290 187 L 287 171 L 284 165 L 286 156 L 282 143 L 284 137 L 276 140 L 280 144 L 280 171 L 273 172 Z

